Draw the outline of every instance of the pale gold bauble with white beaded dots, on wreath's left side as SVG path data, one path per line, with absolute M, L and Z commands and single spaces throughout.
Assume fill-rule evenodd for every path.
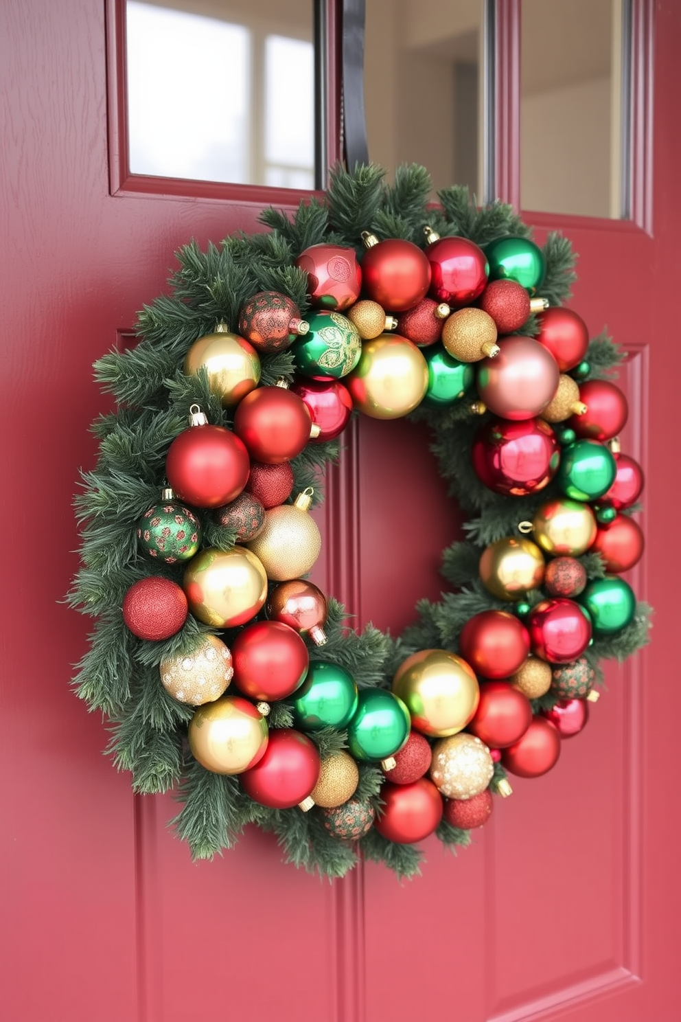
M 191 706 L 220 699 L 232 681 L 232 654 L 216 636 L 203 635 L 189 653 L 167 656 L 159 665 L 163 688 Z

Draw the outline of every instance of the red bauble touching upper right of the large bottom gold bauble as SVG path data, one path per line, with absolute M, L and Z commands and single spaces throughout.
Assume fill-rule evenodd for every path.
M 527 659 L 530 636 L 523 622 L 507 611 L 482 610 L 461 629 L 458 647 L 476 675 L 509 678 Z

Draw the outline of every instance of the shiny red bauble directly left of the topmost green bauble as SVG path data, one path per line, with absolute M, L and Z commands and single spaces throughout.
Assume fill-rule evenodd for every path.
M 460 309 L 482 294 L 489 264 L 475 242 L 468 238 L 437 238 L 426 245 L 426 257 L 431 267 L 431 298 Z

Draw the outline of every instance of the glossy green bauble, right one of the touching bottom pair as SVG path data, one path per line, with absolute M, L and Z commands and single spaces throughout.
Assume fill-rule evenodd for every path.
M 355 759 L 380 760 L 399 752 L 409 737 L 411 718 L 402 700 L 386 689 L 362 689 L 347 727 Z

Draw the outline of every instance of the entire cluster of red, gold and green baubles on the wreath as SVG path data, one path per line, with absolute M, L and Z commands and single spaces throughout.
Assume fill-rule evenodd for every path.
M 218 324 L 190 347 L 185 373 L 207 374 L 234 426 L 211 425 L 192 407 L 189 428 L 167 451 L 168 486 L 138 527 L 145 555 L 186 562 L 182 585 L 142 578 L 123 610 L 148 641 L 175 635 L 189 613 L 228 633 L 229 645 L 204 634 L 191 654 L 159 667 L 169 695 L 196 707 L 189 746 L 206 770 L 238 775 L 266 806 L 319 806 L 341 839 L 374 826 L 410 843 L 442 819 L 464 829 L 484 824 L 495 761 L 539 776 L 556 761 L 562 738 L 584 727 L 592 635 L 615 634 L 634 614 L 620 573 L 641 556 L 642 536 L 620 512 L 643 480 L 616 444 L 624 394 L 607 381 L 580 385 L 585 324 L 536 296 L 545 266 L 534 242 L 505 237 L 483 250 L 430 229 L 425 249 L 362 239 L 361 263 L 335 244 L 299 256 L 311 307 L 304 317 L 285 295 L 261 291 L 243 306 L 239 334 Z M 532 311 L 538 335 L 514 333 Z M 296 367 L 292 385 L 260 386 L 259 356 L 285 350 Z M 476 614 L 458 654 L 422 650 L 401 664 L 391 690 L 359 689 L 315 653 L 326 642 L 327 600 L 304 575 L 321 540 L 307 513 L 311 492 L 291 501 L 290 462 L 308 443 L 338 436 L 353 408 L 392 419 L 474 388 L 475 410 L 494 416 L 473 445 L 482 482 L 514 497 L 557 477 L 563 496 L 527 523 L 532 540 L 507 537 L 482 554 L 484 586 L 515 612 Z M 235 545 L 204 546 L 201 513 Z M 578 560 L 586 551 L 601 555 L 604 578 L 587 582 Z M 528 594 L 542 588 L 546 597 L 531 606 Z M 531 700 L 549 690 L 556 705 L 534 714 Z M 271 704 L 281 700 L 295 726 L 271 729 Z M 325 728 L 346 731 L 348 751 L 322 759 L 313 736 Z M 353 797 L 362 762 L 386 776 L 379 816 Z

